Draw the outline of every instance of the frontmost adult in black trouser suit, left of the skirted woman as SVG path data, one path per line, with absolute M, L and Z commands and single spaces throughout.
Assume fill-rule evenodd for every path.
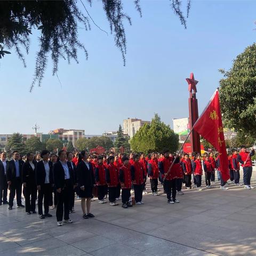
M 70 165 L 67 164 L 67 153 L 64 150 L 59 151 L 59 161 L 53 166 L 54 184 L 57 191 L 57 226 L 62 226 L 63 205 L 64 222 L 73 223 L 69 219 L 70 197 L 74 189 L 74 173 Z

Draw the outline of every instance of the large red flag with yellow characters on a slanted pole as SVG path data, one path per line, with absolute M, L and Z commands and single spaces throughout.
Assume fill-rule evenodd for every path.
M 193 129 L 201 134 L 215 149 L 218 150 L 221 177 L 224 181 L 227 181 L 230 178 L 230 175 L 218 90 L 215 91 L 209 105 L 203 111 L 203 114 L 197 119 Z

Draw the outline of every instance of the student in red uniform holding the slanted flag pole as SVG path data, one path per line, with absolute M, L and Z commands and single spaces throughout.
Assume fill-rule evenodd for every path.
M 169 150 L 164 150 L 164 158 L 159 162 L 159 170 L 164 175 L 164 187 L 167 196 L 167 203 L 174 204 L 180 201 L 176 198 L 176 178 L 178 170 L 180 169 L 180 158 L 177 157 L 175 163 L 172 165 L 173 159 L 169 156 Z

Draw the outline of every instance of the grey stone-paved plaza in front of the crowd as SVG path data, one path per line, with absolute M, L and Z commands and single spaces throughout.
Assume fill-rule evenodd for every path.
M 55 210 L 41 220 L 2 205 L 0 255 L 256 255 L 256 189 L 213 186 L 185 190 L 174 205 L 167 204 L 162 187 L 161 195 L 147 194 L 145 205 L 129 209 L 95 201 L 95 218 L 87 220 L 76 201 L 74 223 L 62 227 Z

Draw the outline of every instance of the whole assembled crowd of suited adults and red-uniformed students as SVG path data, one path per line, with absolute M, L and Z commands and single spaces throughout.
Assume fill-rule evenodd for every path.
M 252 160 L 254 150 L 248 152 L 244 146 L 238 154 L 236 149 L 228 154 L 230 180 L 236 186 L 242 186 L 240 180 L 240 164 L 243 167 L 243 183 L 246 189 L 251 186 Z M 93 218 L 91 201 L 93 195 L 98 196 L 98 203 L 118 205 L 122 198 L 122 207 L 127 209 L 133 204 L 142 205 L 143 194 L 147 194 L 146 181 L 150 180 L 153 196 L 158 195 L 158 182 L 161 182 L 167 202 L 179 203 L 176 195 L 183 195 L 183 187 L 191 189 L 192 178 L 194 187 L 202 188 L 202 175 L 205 173 L 206 188 L 215 183 L 215 171 L 218 173 L 220 188 L 228 189 L 227 182 L 222 180 L 219 170 L 219 155 L 197 153 L 170 154 L 169 150 L 163 153 L 133 154 L 130 156 L 110 152 L 106 155 L 89 155 L 87 151 L 80 153 L 59 151 L 58 156 L 42 150 L 41 154 L 34 156 L 28 153 L 25 162 L 18 151 L 13 151 L 12 160 L 6 160 L 6 153 L 1 153 L 0 161 L 0 205 L 9 204 L 13 208 L 16 194 L 17 206 L 25 207 L 27 214 L 36 213 L 36 200 L 39 218 L 52 217 L 50 209 L 56 209 L 57 226 L 62 223 L 72 223 L 70 213 L 74 213 L 75 194 L 81 199 L 83 218 Z M 25 206 L 21 203 L 21 193 L 25 196 Z M 10 190 L 9 202 L 7 189 Z M 122 190 L 122 194 L 121 194 Z M 131 197 L 134 191 L 134 202 Z M 44 211 L 43 211 L 44 206 Z M 64 218 L 63 218 L 64 217 Z

